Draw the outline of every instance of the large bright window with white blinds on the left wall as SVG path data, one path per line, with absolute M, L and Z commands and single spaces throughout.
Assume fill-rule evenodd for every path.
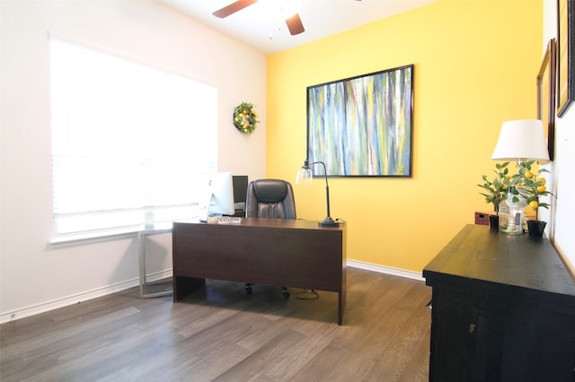
M 50 39 L 55 236 L 190 217 L 217 169 L 217 89 Z

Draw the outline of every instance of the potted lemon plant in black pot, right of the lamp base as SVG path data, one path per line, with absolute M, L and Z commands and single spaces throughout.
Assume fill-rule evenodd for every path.
M 541 176 L 542 173 L 549 171 L 547 169 L 535 171 L 534 164 L 535 161 L 519 164 L 518 172 L 511 177 L 511 182 L 517 186 L 519 196 L 535 211 L 535 221 L 527 221 L 529 236 L 542 237 L 547 222 L 539 220 L 539 208 L 549 208 L 549 204 L 542 202 L 540 197 L 553 194 L 547 191 L 545 186 L 547 181 Z

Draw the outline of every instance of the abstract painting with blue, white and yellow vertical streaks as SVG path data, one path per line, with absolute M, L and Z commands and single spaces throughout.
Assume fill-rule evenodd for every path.
M 412 125 L 413 65 L 307 88 L 307 158 L 329 177 L 411 177 Z

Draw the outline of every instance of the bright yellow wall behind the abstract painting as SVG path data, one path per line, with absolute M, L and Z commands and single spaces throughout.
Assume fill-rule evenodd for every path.
M 326 16 L 328 17 L 328 16 Z M 267 175 L 305 160 L 306 87 L 414 64 L 411 178 L 330 178 L 348 258 L 420 272 L 474 211 L 500 125 L 534 118 L 542 0 L 441 0 L 268 57 Z M 294 185 L 299 218 L 325 216 L 324 183 Z

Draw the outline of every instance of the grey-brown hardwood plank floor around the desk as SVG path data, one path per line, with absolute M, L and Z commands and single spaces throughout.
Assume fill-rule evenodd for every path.
M 0 326 L 0 380 L 428 380 L 431 289 L 356 268 L 347 285 L 343 326 L 336 293 L 209 280 L 176 304 L 134 288 L 22 318 Z

